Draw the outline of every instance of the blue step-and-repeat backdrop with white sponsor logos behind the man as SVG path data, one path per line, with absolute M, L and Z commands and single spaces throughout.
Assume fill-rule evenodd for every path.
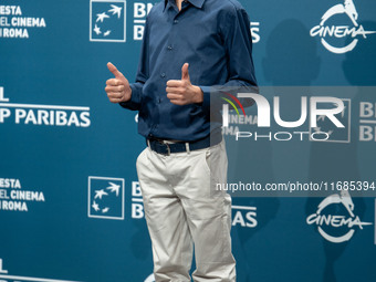
M 0 0 L 1 282 L 154 281 L 135 169 L 145 140 L 137 113 L 111 104 L 104 91 L 107 62 L 134 81 L 154 3 Z M 300 86 L 302 96 L 307 87 L 347 90 L 333 95 L 344 101 L 338 118 L 348 130 L 327 129 L 332 142 L 290 140 L 283 130 L 247 140 L 240 153 L 229 148 L 230 177 L 231 156 L 241 155 L 243 173 L 260 184 L 331 190 L 233 197 L 238 281 L 374 282 L 376 2 L 241 3 L 259 84 Z M 288 96 L 300 105 L 293 90 Z M 247 123 L 254 129 L 257 112 L 234 117 L 227 137 Z M 316 129 L 325 130 L 320 118 Z

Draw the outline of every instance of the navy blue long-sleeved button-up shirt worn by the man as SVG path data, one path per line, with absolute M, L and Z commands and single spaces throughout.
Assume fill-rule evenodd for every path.
M 251 53 L 250 20 L 236 0 L 188 0 L 181 11 L 175 0 L 163 0 L 147 17 L 132 97 L 121 105 L 139 111 L 145 137 L 205 138 L 220 129 L 220 123 L 210 126 L 210 86 L 257 85 Z M 167 97 L 167 81 L 181 80 L 185 63 L 191 84 L 203 92 L 200 104 L 179 106 Z

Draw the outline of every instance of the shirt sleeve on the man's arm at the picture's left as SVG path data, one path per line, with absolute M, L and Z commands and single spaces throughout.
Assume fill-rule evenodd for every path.
M 132 109 L 132 111 L 139 111 L 142 106 L 142 96 L 143 96 L 143 87 L 147 79 L 149 77 L 149 20 L 146 19 L 144 36 L 143 36 L 143 44 L 140 50 L 138 70 L 136 74 L 135 83 L 130 83 L 132 96 L 130 100 L 127 102 L 122 102 L 119 105 L 122 107 Z

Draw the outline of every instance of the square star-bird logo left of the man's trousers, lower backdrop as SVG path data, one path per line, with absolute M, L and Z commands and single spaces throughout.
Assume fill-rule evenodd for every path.
M 124 219 L 124 179 L 88 177 L 87 215 L 90 218 Z

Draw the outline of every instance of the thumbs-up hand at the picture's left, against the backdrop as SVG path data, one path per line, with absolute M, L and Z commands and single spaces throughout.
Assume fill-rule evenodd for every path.
M 105 91 L 107 93 L 108 100 L 112 103 L 122 103 L 130 100 L 132 88 L 129 82 L 123 73 L 117 71 L 116 66 L 112 63 L 107 63 L 109 72 L 115 75 L 115 79 L 109 79 L 106 81 Z

